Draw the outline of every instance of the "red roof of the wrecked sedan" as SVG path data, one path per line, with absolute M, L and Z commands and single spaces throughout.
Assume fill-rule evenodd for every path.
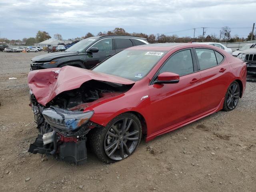
M 154 43 L 144 44 L 139 46 L 133 46 L 127 48 L 128 50 L 158 50 L 158 51 L 170 51 L 175 48 L 192 48 L 192 47 L 205 47 L 205 48 L 216 48 L 208 44 L 192 44 L 192 43 Z

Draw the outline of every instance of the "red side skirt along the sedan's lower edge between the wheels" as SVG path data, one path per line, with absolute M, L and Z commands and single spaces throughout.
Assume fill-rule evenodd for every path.
M 180 127 L 183 127 L 183 126 L 185 126 L 185 125 L 187 125 L 187 124 L 190 124 L 190 123 L 192 123 L 192 122 L 194 122 L 194 121 L 196 121 L 196 120 L 199 120 L 199 119 L 201 119 L 201 118 L 204 118 L 204 117 L 206 117 L 206 116 L 208 116 L 208 115 L 210 115 L 210 114 L 213 114 L 213 113 L 215 113 L 215 112 L 217 112 L 217 111 L 219 111 L 219 110 L 222 110 L 223 103 L 224 103 L 224 99 L 225 99 L 225 98 L 222 98 L 220 104 L 219 104 L 216 108 L 213 108 L 213 109 L 211 109 L 211 110 L 208 110 L 208 111 L 206 111 L 206 112 L 203 112 L 203 113 L 201 113 L 201 114 L 199 114 L 199 115 L 197 115 L 197 116 L 194 116 L 194 117 L 192 117 L 192 118 L 189 118 L 189 119 L 187 119 L 187 120 L 184 120 L 184 121 L 182 121 L 182 122 L 179 122 L 179 123 L 177 123 L 177 124 L 175 124 L 175 125 L 172 125 L 172 126 L 170 126 L 170 127 L 167 127 L 167 128 L 165 128 L 165 129 L 162 129 L 162 130 L 160 130 L 160 131 L 158 131 L 158 132 L 155 132 L 155 133 L 151 134 L 150 136 L 147 136 L 146 142 L 148 142 L 148 141 L 154 139 L 156 136 L 159 136 L 159 135 L 168 133 L 168 132 L 170 132 L 170 131 L 173 131 L 173 130 L 175 130 L 175 129 L 178 129 L 178 128 L 180 128 Z

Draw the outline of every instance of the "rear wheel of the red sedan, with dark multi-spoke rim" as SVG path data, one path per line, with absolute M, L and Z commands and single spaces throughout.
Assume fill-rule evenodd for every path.
M 224 111 L 232 111 L 236 108 L 240 97 L 240 86 L 234 81 L 228 87 L 223 104 Z

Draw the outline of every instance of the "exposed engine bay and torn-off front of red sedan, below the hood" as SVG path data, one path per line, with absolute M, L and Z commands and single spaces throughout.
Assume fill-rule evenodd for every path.
M 30 106 L 39 134 L 28 152 L 52 155 L 75 164 L 86 162 L 86 134 L 92 128 L 101 127 L 90 121 L 94 111 L 86 108 L 118 96 L 131 87 L 132 84 L 89 80 L 80 88 L 58 94 L 46 106 L 38 103 L 30 90 Z

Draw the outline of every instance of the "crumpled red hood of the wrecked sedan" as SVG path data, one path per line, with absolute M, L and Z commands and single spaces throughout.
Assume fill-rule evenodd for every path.
M 94 72 L 73 66 L 31 71 L 28 74 L 28 86 L 38 103 L 46 105 L 56 95 L 79 88 L 89 80 L 106 81 L 118 84 L 134 84 L 132 80 L 105 73 Z

